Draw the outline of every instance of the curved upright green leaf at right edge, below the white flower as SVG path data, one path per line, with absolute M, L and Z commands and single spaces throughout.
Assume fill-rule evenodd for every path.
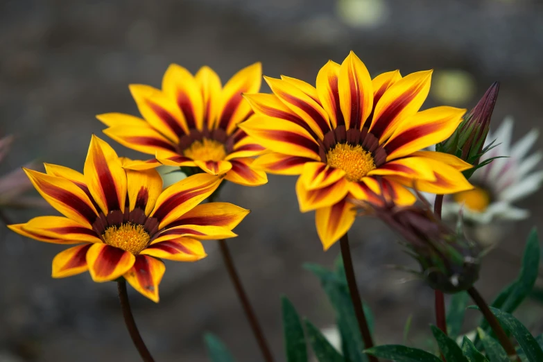
M 524 248 L 524 257 L 522 257 L 522 267 L 520 269 L 519 276 L 503 291 L 499 293 L 497 298 L 492 302 L 491 306 L 501 309 L 506 313 L 512 313 L 519 307 L 522 301 L 531 293 L 532 288 L 537 279 L 540 267 L 540 242 L 537 236 L 537 230 L 532 229 L 526 240 L 526 247 Z M 490 326 L 488 322 L 483 319 L 480 325 L 487 333 L 490 332 Z M 475 345 L 481 348 L 478 338 L 476 338 Z

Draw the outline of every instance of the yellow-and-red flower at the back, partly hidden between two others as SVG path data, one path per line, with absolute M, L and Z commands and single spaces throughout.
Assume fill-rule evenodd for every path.
M 258 92 L 260 84 L 260 63 L 242 69 L 224 87 L 209 67 L 192 76 L 171 64 L 162 90 L 130 85 L 144 119 L 121 113 L 101 114 L 98 119 L 109 126 L 104 133 L 115 141 L 156 157 L 130 168 L 153 167 L 158 162 L 199 167 L 237 184 L 257 186 L 268 179 L 266 173 L 251 169 L 251 157 L 264 148 L 237 126 L 252 114 L 241 94 Z

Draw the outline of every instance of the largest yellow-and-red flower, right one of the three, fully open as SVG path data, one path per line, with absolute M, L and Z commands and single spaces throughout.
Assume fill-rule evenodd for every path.
M 273 94 L 245 94 L 256 114 L 240 128 L 274 151 L 253 167 L 300 175 L 300 209 L 316 209 L 325 249 L 354 222 L 350 198 L 379 202 L 377 193 L 409 205 L 415 196 L 405 187 L 414 182 L 433 193 L 472 188 L 460 172 L 469 164 L 420 151 L 447 139 L 465 112 L 454 107 L 419 112 L 430 78 L 431 71 L 403 78 L 390 71 L 372 80 L 351 52 L 343 64 L 329 61 L 322 67 L 316 87 L 294 78 L 266 78 Z

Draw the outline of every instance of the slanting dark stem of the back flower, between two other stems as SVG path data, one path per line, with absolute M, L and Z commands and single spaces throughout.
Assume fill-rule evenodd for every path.
M 259 325 L 255 311 L 252 309 L 249 298 L 247 297 L 247 293 L 245 293 L 245 290 L 243 289 L 243 285 L 241 284 L 241 280 L 239 279 L 239 275 L 236 271 L 236 266 L 234 266 L 234 260 L 232 259 L 232 255 L 230 254 L 228 245 L 226 245 L 225 240 L 219 240 L 218 245 L 221 247 L 221 254 L 223 255 L 225 266 L 228 270 L 228 275 L 230 275 L 232 284 L 234 284 L 234 288 L 236 289 L 239 301 L 241 302 L 241 307 L 243 307 L 245 316 L 247 317 L 251 326 L 252 333 L 255 335 L 260 350 L 264 355 L 264 360 L 266 362 L 273 362 L 273 356 L 270 352 L 270 347 L 268 347 L 268 343 L 266 342 L 264 333 L 262 332 L 262 329 Z

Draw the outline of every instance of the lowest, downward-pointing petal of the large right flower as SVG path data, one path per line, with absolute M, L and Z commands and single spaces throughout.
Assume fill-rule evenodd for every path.
M 316 210 L 317 234 L 325 251 L 349 231 L 355 218 L 354 205 L 345 198 L 334 205 Z

